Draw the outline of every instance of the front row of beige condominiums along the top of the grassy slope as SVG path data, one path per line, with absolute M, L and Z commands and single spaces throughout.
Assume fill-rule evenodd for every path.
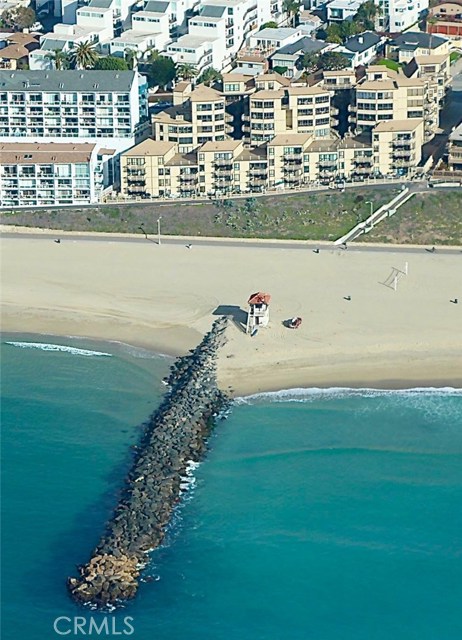
M 315 182 L 361 181 L 379 173 L 401 175 L 404 168 L 410 171 L 411 160 L 420 161 L 423 123 L 402 122 L 390 132 L 385 124 L 393 123 L 378 125 L 374 142 L 370 137 L 316 139 L 291 133 L 256 147 L 246 147 L 242 140 L 223 140 L 182 154 L 174 143 L 145 140 L 121 155 L 121 194 L 127 198 L 222 196 Z M 402 136 L 406 145 L 398 150 Z M 405 157 L 408 146 L 411 153 Z

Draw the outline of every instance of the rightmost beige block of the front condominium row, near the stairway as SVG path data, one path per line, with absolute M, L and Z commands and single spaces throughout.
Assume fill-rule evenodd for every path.
M 422 159 L 424 123 L 420 118 L 380 122 L 372 133 L 374 164 L 382 175 L 408 175 Z

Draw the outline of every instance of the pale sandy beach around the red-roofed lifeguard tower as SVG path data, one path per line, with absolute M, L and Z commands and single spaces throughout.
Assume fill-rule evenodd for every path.
M 1 239 L 2 330 L 195 346 L 231 313 L 219 381 L 236 395 L 313 386 L 462 387 L 462 254 L 161 246 L 61 235 Z M 392 268 L 409 274 L 395 292 Z M 255 291 L 270 326 L 238 326 Z M 351 296 L 351 300 L 345 300 Z M 459 304 L 450 300 L 458 298 Z M 221 309 L 220 309 L 221 307 Z M 302 326 L 283 321 L 298 315 Z

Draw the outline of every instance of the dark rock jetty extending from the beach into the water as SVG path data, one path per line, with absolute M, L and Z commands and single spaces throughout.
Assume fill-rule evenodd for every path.
M 189 355 L 178 358 L 165 382 L 169 391 L 150 417 L 119 504 L 90 561 L 69 578 L 74 600 L 94 607 L 133 598 L 148 554 L 164 537 L 191 462 L 207 447 L 214 418 L 228 400 L 216 382 L 218 349 L 227 319 L 220 317 Z

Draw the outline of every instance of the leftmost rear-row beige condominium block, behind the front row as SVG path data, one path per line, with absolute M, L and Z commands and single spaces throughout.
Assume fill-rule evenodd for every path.
M 153 116 L 152 131 L 155 140 L 178 144 L 180 153 L 225 140 L 225 98 L 205 85 L 191 90 L 189 83 L 180 83 L 173 107 Z

